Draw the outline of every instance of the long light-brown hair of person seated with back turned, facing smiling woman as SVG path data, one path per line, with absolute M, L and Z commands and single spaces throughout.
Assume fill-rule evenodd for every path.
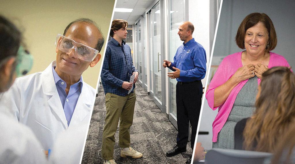
M 278 140 L 295 125 L 295 76 L 287 67 L 262 74 L 256 111 L 244 130 L 244 148 L 273 152 Z

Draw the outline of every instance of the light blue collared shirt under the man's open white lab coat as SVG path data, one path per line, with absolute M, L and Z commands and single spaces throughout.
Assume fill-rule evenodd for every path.
M 58 74 L 55 72 L 55 67 L 52 67 L 53 77 L 55 81 L 55 86 L 60 98 L 60 102 L 63 105 L 63 111 L 65 112 L 65 118 L 67 119 L 68 126 L 70 125 L 78 98 L 80 96 L 82 87 L 83 87 L 83 79 L 82 76 L 80 80 L 75 84 L 71 85 L 68 95 L 65 92 L 65 88 L 67 87 L 67 83 L 63 81 Z

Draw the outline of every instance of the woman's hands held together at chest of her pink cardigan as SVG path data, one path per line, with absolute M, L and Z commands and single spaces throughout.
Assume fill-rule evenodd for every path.
M 238 82 L 254 77 L 255 75 L 261 79 L 263 72 L 267 70 L 268 70 L 268 66 L 263 65 L 261 63 L 258 63 L 256 65 L 248 64 L 246 66 L 240 67 L 236 71 L 234 76 L 237 78 Z

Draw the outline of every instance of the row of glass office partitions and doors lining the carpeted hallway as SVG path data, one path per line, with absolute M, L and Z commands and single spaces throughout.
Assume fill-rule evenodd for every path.
M 164 3 L 166 3 L 165 8 Z M 167 16 L 164 16 L 164 9 L 167 10 Z M 162 64 L 164 59 L 173 61 L 176 49 L 182 44 L 177 33 L 178 27 L 183 21 L 185 21 L 185 0 L 160 0 L 133 26 L 136 31 L 135 62 L 140 72 L 139 84 L 148 90 L 150 96 L 154 98 L 155 104 L 163 113 L 168 114 L 169 120 L 176 128 L 177 81 L 169 78 L 168 83 L 165 83 L 167 76 L 165 72 L 172 71 L 163 68 Z M 168 26 L 164 26 L 164 22 Z M 168 37 L 167 43 L 165 43 L 165 37 Z M 168 50 L 165 51 L 165 48 Z M 166 88 L 168 95 L 166 95 Z M 166 100 L 168 102 L 165 102 Z M 168 105 L 167 111 L 166 104 Z

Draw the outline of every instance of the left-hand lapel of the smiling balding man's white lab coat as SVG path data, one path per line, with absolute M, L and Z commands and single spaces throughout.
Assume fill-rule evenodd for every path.
M 56 66 L 56 61 L 53 61 L 41 74 L 42 88 L 46 95 L 48 105 L 53 112 L 58 116 L 60 121 L 63 123 L 64 128 L 68 128 L 68 124 L 65 118 L 65 112 L 63 111 L 63 106 L 60 102 L 60 98 L 56 89 L 52 67 Z

